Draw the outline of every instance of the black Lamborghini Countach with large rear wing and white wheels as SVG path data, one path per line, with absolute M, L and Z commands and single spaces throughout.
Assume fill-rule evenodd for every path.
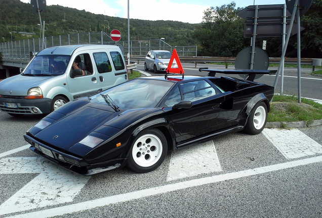
M 263 130 L 274 88 L 253 80 L 276 71 L 200 71 L 209 75 L 136 78 L 73 100 L 31 127 L 24 138 L 37 154 L 93 175 L 123 166 L 150 172 L 169 149 Z M 218 72 L 247 78 L 215 77 Z

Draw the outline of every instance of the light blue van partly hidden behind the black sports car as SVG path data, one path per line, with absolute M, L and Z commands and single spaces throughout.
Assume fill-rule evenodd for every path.
M 0 82 L 0 110 L 12 116 L 49 114 L 66 102 L 128 80 L 115 45 L 66 45 L 37 53 L 26 69 Z

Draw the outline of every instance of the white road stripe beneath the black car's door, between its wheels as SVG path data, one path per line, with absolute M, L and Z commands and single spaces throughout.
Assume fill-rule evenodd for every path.
M 213 140 L 172 152 L 167 181 L 222 171 Z

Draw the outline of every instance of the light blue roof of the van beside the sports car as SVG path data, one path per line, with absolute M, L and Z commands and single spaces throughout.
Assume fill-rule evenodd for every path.
M 38 55 L 72 55 L 72 53 L 78 49 L 79 50 L 89 50 L 97 48 L 115 48 L 119 49 L 115 45 L 92 45 L 92 44 L 83 44 L 83 45 L 62 45 L 55 46 L 50 48 L 45 48 L 44 50 L 39 51 Z

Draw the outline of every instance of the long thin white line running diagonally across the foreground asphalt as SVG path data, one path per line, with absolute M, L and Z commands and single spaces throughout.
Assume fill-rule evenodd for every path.
M 33 218 L 33 217 L 45 218 L 45 217 L 59 216 L 59 215 L 73 213 L 73 212 L 81 212 L 81 211 L 93 209 L 96 207 L 107 206 L 110 204 L 140 199 L 140 198 L 153 196 L 157 194 L 183 190 L 183 189 L 192 188 L 196 186 L 202 186 L 202 185 L 207 185 L 207 184 L 212 184 L 212 183 L 217 183 L 217 182 L 222 182 L 227 180 L 233 180 L 233 179 L 238 179 L 238 178 L 243 178 L 248 176 L 255 176 L 255 175 L 264 174 L 264 173 L 276 172 L 276 171 L 304 166 L 304 165 L 308 165 L 310 163 L 316 163 L 316 162 L 322 162 L 322 156 L 295 160 L 295 161 L 290 161 L 285 163 L 279 163 L 277 165 L 271 165 L 267 167 L 255 168 L 255 169 L 239 171 L 234 173 L 216 175 L 212 177 L 194 179 L 194 180 L 174 183 L 170 185 L 153 187 L 153 188 L 139 190 L 135 192 L 114 195 L 114 196 L 95 199 L 91 201 L 85 201 L 81 203 L 61 206 L 59 208 L 52 208 L 52 209 L 35 211 L 35 212 L 30 212 L 25 214 L 19 214 L 15 216 L 10 216 L 8 218 L 18 218 L 18 217 L 19 218 Z

